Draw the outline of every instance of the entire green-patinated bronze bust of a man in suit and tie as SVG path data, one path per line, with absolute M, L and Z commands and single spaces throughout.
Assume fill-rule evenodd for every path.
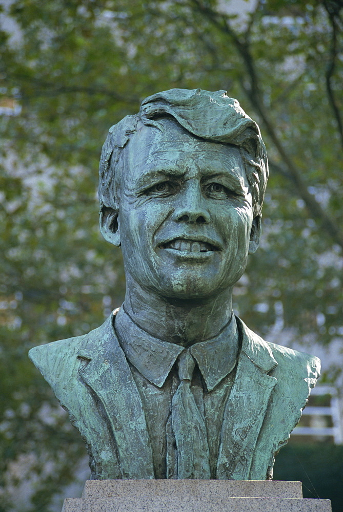
M 99 173 L 124 304 L 92 332 L 30 351 L 92 478 L 270 479 L 319 359 L 232 313 L 268 178 L 257 124 L 225 91 L 154 94 L 112 126 Z

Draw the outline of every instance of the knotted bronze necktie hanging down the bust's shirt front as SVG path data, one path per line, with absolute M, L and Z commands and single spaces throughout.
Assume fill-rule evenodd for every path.
M 205 418 L 199 411 L 191 391 L 194 366 L 195 360 L 192 355 L 184 350 L 178 357 L 180 383 L 171 405 L 171 426 L 176 444 L 178 479 L 211 478 Z

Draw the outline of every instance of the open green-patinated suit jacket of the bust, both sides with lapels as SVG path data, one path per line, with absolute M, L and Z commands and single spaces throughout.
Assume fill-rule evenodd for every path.
M 216 478 L 265 480 L 300 419 L 320 361 L 267 343 L 236 320 L 242 345 L 221 426 Z M 85 440 L 92 478 L 153 479 L 142 401 L 112 321 L 111 315 L 88 334 L 34 347 L 29 357 Z

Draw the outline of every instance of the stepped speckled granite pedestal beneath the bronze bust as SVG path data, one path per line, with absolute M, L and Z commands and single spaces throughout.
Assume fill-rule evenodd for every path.
M 62 512 L 331 512 L 303 499 L 301 482 L 264 480 L 87 480 Z

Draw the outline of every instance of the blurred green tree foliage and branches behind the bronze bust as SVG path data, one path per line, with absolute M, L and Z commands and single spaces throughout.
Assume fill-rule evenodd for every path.
M 270 161 L 264 234 L 235 312 L 277 343 L 343 339 L 343 8 L 0 5 L 0 510 L 49 512 L 85 451 L 27 352 L 88 332 L 123 301 L 120 250 L 98 229 L 97 166 L 109 127 L 146 96 L 225 89 L 259 123 Z

